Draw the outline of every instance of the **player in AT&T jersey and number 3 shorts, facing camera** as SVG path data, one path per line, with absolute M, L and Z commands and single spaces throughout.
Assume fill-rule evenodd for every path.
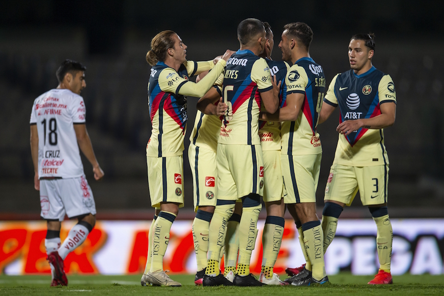
M 376 222 L 379 271 L 369 284 L 392 284 L 392 225 L 387 211 L 389 160 L 384 128 L 395 122 L 396 92 L 392 78 L 373 67 L 374 35 L 357 34 L 348 45 L 351 70 L 330 83 L 319 122 L 339 106 L 339 133 L 333 165 L 325 187 L 322 215 L 324 252 L 333 240 L 339 215 L 359 190 Z

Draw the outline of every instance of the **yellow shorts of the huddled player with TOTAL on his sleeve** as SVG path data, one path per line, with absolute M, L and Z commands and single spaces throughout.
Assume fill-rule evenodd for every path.
M 322 153 L 307 155 L 281 154 L 282 175 L 287 195 L 284 203 L 316 202 L 316 189 Z

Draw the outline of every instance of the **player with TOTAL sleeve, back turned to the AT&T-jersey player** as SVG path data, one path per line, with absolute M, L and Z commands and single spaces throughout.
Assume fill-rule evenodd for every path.
M 262 120 L 283 121 L 281 165 L 287 195 L 284 202 L 299 224 L 299 237 L 306 255 L 305 269 L 286 280 L 295 286 L 323 284 L 325 273 L 321 222 L 316 216 L 316 188 L 322 148 L 316 132 L 325 90 L 322 67 L 310 57 L 313 31 L 305 23 L 284 26 L 279 47 L 282 59 L 291 61 L 285 83 L 286 105 L 276 113 L 261 113 Z

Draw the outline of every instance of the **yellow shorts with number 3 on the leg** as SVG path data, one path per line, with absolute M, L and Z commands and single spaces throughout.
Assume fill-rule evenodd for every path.
M 364 206 L 387 202 L 388 165 L 353 167 L 333 164 L 325 186 L 324 200 L 351 205 L 356 193 Z

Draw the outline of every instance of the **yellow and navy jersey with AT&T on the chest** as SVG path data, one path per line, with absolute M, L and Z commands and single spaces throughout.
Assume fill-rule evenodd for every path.
M 334 107 L 339 105 L 339 123 L 371 118 L 381 114 L 381 104 L 396 104 L 395 84 L 390 75 L 374 67 L 360 75 L 350 70 L 334 76 L 324 102 Z M 339 134 L 333 163 L 349 166 L 388 164 L 383 129 L 360 128 L 347 137 Z

